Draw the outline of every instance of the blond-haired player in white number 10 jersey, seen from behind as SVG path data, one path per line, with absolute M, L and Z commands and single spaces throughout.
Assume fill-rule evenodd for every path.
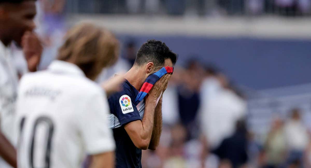
M 118 40 L 91 24 L 67 33 L 46 71 L 22 77 L 16 107 L 17 165 L 77 168 L 85 154 L 92 168 L 114 167 L 114 139 L 106 121 L 106 93 L 95 78 L 118 57 Z M 106 83 L 114 91 L 121 80 Z

